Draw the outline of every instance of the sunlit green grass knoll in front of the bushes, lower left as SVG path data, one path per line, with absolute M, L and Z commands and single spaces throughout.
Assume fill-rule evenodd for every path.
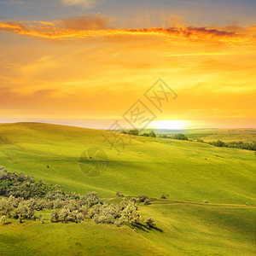
M 12 220 L 0 228 L 1 255 L 154 255 L 153 251 L 162 254 L 127 226 Z

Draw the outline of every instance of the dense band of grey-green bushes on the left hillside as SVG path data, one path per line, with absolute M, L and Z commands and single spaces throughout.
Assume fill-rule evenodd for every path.
M 37 182 L 31 176 L 7 172 L 3 167 L 0 167 L 0 188 L 0 195 L 8 196 L 0 201 L 2 221 L 8 217 L 17 218 L 21 223 L 23 219 L 36 219 L 37 211 L 50 209 L 51 222 L 79 223 L 84 218 L 93 218 L 96 224 L 120 226 L 144 221 L 148 228 L 155 227 L 151 217 L 141 218 L 137 212 L 137 201 L 133 198 L 128 200 L 124 197 L 119 204 L 108 205 L 99 199 L 96 192 L 84 196 L 67 193 L 60 186 Z

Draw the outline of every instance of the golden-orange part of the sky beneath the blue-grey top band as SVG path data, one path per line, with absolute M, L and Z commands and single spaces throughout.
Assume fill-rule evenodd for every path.
M 162 113 L 150 107 L 159 120 L 255 127 L 256 26 L 185 26 L 178 17 L 136 29 L 105 15 L 2 20 L 0 121 L 94 126 L 120 119 L 162 78 L 177 99 Z

